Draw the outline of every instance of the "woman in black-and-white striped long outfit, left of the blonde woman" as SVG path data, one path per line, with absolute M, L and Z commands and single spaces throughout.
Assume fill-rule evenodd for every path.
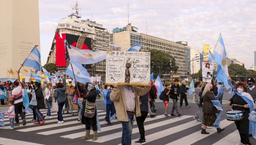
M 200 103 L 199 93 L 201 92 L 201 90 L 202 90 L 202 84 L 200 81 L 198 81 L 195 83 L 195 103 L 198 105 L 199 110 L 193 118 L 199 122 L 203 122 L 203 108 L 199 106 L 199 103 Z

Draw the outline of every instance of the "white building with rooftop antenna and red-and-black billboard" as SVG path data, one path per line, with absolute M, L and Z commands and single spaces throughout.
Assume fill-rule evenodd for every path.
M 109 30 L 103 28 L 101 24 L 89 19 L 82 20 L 79 16 L 78 4 L 75 5 L 76 13 L 72 13 L 67 18 L 63 18 L 55 31 L 55 36 L 52 42 L 52 47 L 49 52 L 47 63 L 55 63 L 57 69 L 65 70 L 68 66 L 68 60 L 65 58 L 65 49 L 63 39 L 66 39 L 70 45 L 75 46 L 77 41 L 81 40 L 82 36 L 85 36 L 83 45 L 80 49 L 90 49 L 92 51 L 107 51 L 110 48 Z M 62 52 L 64 51 L 64 52 Z M 101 61 L 98 64 L 86 65 L 90 75 L 102 76 L 104 79 L 106 75 L 106 62 Z

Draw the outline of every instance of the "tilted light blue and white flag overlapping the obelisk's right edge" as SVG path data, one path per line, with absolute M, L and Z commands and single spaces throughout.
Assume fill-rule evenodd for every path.
M 41 70 L 41 55 L 36 46 L 31 50 L 31 53 L 25 59 L 23 65 L 33 67 L 35 74 L 37 74 L 38 70 Z

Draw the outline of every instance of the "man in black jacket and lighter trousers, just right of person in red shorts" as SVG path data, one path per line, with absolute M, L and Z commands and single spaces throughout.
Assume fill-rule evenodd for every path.
M 175 116 L 173 114 L 174 110 L 176 110 L 176 113 L 178 114 L 178 117 L 182 116 L 179 113 L 178 105 L 177 105 L 177 102 L 180 99 L 179 79 L 175 79 L 174 80 L 174 85 L 172 85 L 172 87 L 171 87 L 171 98 L 172 98 L 172 101 L 173 101 L 171 116 Z

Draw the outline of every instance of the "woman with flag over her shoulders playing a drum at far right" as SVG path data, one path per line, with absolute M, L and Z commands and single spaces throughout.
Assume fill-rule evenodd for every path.
M 249 132 L 249 113 L 252 112 L 254 108 L 254 102 L 252 96 L 247 93 L 247 87 L 243 82 L 238 82 L 235 86 L 236 94 L 227 102 L 227 105 L 231 105 L 233 110 L 240 110 L 243 112 L 243 119 L 235 121 L 236 127 L 240 135 L 240 143 L 236 145 L 248 144 L 251 145 L 249 139 L 249 133 L 252 134 L 252 129 Z M 254 128 L 255 129 L 255 128 Z

